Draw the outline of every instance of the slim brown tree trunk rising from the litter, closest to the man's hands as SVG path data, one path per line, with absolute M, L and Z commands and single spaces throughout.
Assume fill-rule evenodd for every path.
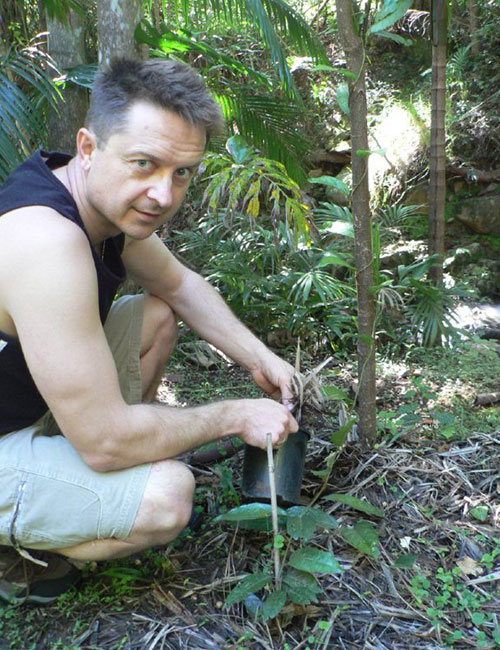
M 375 299 L 373 287 L 372 227 L 368 188 L 368 128 L 365 84 L 365 54 L 361 38 L 354 32 L 352 0 L 336 0 L 339 35 L 347 68 L 356 75 L 349 83 L 352 156 L 352 212 L 354 255 L 358 296 L 358 415 L 359 435 L 373 444 L 376 437 L 375 410 Z M 364 153 L 360 153 L 364 152 Z

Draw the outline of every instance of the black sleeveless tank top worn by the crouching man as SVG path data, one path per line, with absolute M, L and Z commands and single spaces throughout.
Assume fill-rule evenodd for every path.
M 73 197 L 50 171 L 62 167 L 70 159 L 71 156 L 62 153 L 37 151 L 12 172 L 0 188 L 0 215 L 32 205 L 47 206 L 79 226 L 88 238 Z M 89 239 L 97 273 L 102 323 L 119 284 L 125 279 L 121 260 L 123 244 L 123 234 L 107 239 L 101 260 Z M 19 340 L 0 330 L 0 435 L 33 424 L 46 411 L 47 404 L 31 377 Z

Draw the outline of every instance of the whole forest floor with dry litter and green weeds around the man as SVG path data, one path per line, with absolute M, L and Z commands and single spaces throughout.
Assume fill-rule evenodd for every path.
M 181 346 L 184 354 L 168 367 L 160 401 L 194 405 L 257 394 L 247 375 L 224 361 L 210 368 L 192 364 L 186 358 L 191 345 Z M 308 545 L 332 552 L 342 568 L 317 576 L 316 602 L 289 602 L 267 623 L 252 615 L 249 601 L 225 607 L 245 575 L 272 572 L 268 533 L 216 519 L 241 503 L 238 452 L 192 466 L 202 515 L 196 532 L 164 548 L 89 566 L 78 589 L 54 605 L 3 607 L 0 648 L 500 647 L 500 409 L 474 406 L 478 393 L 500 390 L 498 354 L 495 343 L 473 339 L 452 350 L 414 350 L 404 361 L 379 360 L 380 438 L 372 449 L 352 435 L 340 448 L 331 442 L 339 402 L 329 402 L 308 423 L 301 502 L 315 500 L 339 524 L 317 530 Z M 309 361 L 311 367 L 317 362 Z M 352 359 L 335 359 L 323 382 L 349 396 L 354 368 Z M 349 399 L 346 405 L 349 410 Z M 331 471 L 318 476 L 329 458 Z M 383 512 L 361 512 L 356 500 L 328 500 L 332 493 Z M 371 522 L 377 538 L 364 550 L 340 532 L 360 520 Z

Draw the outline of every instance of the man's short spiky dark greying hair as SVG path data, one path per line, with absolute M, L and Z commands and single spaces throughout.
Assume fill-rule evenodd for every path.
M 172 111 L 205 129 L 207 141 L 223 126 L 218 104 L 193 68 L 174 59 L 120 58 L 101 70 L 92 86 L 85 125 L 94 131 L 99 146 L 123 128 L 130 106 L 137 101 Z

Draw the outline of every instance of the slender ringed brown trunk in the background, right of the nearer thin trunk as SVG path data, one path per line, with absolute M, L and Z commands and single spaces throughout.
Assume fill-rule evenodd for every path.
M 430 270 L 435 286 L 443 282 L 444 207 L 446 200 L 445 109 L 447 0 L 432 6 L 431 154 L 429 163 L 429 255 L 436 255 Z

